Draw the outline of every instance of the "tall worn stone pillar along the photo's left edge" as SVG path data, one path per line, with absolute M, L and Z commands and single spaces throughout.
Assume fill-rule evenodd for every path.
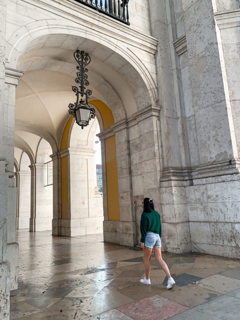
M 11 178 L 14 177 L 15 87 L 23 73 L 5 69 L 5 0 L 0 2 L 0 12 L 0 318 L 7 320 L 10 289 L 17 289 L 18 280 L 17 194 Z

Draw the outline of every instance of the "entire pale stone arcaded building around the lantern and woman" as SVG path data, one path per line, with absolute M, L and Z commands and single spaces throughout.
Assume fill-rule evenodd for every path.
M 48 221 L 54 235 L 103 230 L 134 246 L 151 196 L 164 250 L 240 257 L 239 1 L 130 0 L 128 11 L 130 26 L 81 1 L 0 1 L 1 319 L 28 219 L 31 231 Z M 92 57 L 97 114 L 81 131 L 67 108 L 76 49 Z

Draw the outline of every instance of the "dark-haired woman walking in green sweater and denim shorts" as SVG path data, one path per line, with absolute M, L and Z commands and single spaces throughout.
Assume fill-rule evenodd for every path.
M 146 276 L 140 280 L 142 284 L 151 284 L 150 282 L 150 260 L 152 251 L 157 262 L 160 264 L 164 270 L 166 276 L 168 277 L 167 289 L 171 289 L 176 284 L 173 278 L 170 275 L 168 266 L 162 258 L 161 252 L 161 220 L 158 212 L 154 210 L 153 200 L 150 198 L 145 198 L 143 201 L 143 213 L 141 215 L 140 223 L 141 231 L 141 248 L 144 253 L 144 262 L 145 262 L 145 273 Z

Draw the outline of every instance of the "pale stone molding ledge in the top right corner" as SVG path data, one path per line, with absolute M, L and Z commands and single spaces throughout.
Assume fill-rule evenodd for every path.
M 240 9 L 215 12 L 214 17 L 220 29 L 240 27 Z

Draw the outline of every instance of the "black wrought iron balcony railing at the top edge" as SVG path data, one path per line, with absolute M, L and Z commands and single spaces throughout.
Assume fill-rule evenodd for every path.
M 128 14 L 129 0 L 75 0 L 100 13 L 130 25 Z

